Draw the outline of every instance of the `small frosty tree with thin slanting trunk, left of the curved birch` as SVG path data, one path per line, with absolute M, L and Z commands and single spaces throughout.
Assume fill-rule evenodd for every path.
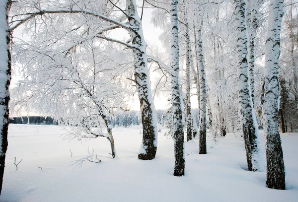
M 59 53 L 58 45 L 53 50 L 52 46 L 44 47 L 39 39 L 33 42 L 35 45 L 17 46 L 17 60 L 24 65 L 21 70 L 24 79 L 11 92 L 14 98 L 11 108 L 17 110 L 26 103 L 41 114 L 51 115 L 58 123 L 71 127 L 72 138 L 106 137 L 115 158 L 108 115 L 113 106 L 125 104 L 121 100 L 127 93 L 115 80 L 126 70 L 127 56 L 116 51 L 117 47 L 110 42 L 105 46 L 98 41 L 84 43 L 71 55 Z M 113 54 L 109 53 L 111 50 Z

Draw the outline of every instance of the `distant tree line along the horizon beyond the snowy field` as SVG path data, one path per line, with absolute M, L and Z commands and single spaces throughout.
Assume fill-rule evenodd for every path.
M 156 110 L 157 123 L 163 123 L 162 115 L 165 110 Z M 195 119 L 198 120 L 198 109 L 193 109 Z M 29 118 L 29 122 L 28 122 Z M 111 118 L 109 116 L 109 124 L 113 127 L 131 127 L 141 124 L 141 114 L 140 111 L 127 111 L 120 114 L 115 114 Z M 58 125 L 54 122 L 52 117 L 42 117 L 42 116 L 29 116 L 29 117 L 12 117 L 9 118 L 9 124 L 31 124 L 31 125 Z M 198 123 L 197 123 L 198 124 Z

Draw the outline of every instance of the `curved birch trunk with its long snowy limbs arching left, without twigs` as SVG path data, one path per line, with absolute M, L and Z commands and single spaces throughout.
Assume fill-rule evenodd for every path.
M 76 7 L 76 6 L 75 6 Z M 37 15 L 44 14 L 55 14 L 55 13 L 81 13 L 83 15 L 89 15 L 96 17 L 98 19 L 104 20 L 113 24 L 110 28 L 107 27 L 103 29 L 103 32 L 96 34 L 96 37 L 102 38 L 108 41 L 122 44 L 133 50 L 135 57 L 135 82 L 137 85 L 137 91 L 139 94 L 139 100 L 141 104 L 141 113 L 142 113 L 142 124 L 143 124 L 143 141 L 141 149 L 139 152 L 139 159 L 150 160 L 155 157 L 156 148 L 157 148 L 157 120 L 155 109 L 153 105 L 153 98 L 151 94 L 151 88 L 149 83 L 149 71 L 147 64 L 147 52 L 146 52 L 146 42 L 143 36 L 142 30 L 142 21 L 137 13 L 136 0 L 126 0 L 127 12 L 126 16 L 128 18 L 127 23 L 123 23 L 122 20 L 118 21 L 117 19 L 110 18 L 101 13 L 93 12 L 93 10 L 81 9 L 76 7 L 73 9 L 73 5 L 69 8 L 61 9 L 60 7 L 56 9 L 33 9 L 34 12 L 29 11 L 24 14 L 24 17 L 21 17 L 18 22 L 10 27 L 10 30 L 14 30 L 21 24 L 25 23 L 28 20 L 34 19 Z M 119 8 L 120 9 L 120 8 Z M 123 11 L 123 10 L 122 10 Z M 124 12 L 124 11 L 123 11 Z M 121 27 L 127 30 L 131 36 L 131 41 L 133 46 L 128 43 L 122 42 L 121 40 L 109 38 L 103 36 L 105 31 L 112 30 L 115 27 Z

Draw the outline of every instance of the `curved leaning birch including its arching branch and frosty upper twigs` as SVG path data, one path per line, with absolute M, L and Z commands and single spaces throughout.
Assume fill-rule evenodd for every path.
M 49 19 L 49 23 L 45 23 L 46 29 L 50 29 L 53 20 L 63 21 L 63 16 L 80 16 L 81 20 L 87 20 L 95 29 L 86 29 L 85 34 L 90 38 L 101 38 L 107 41 L 119 43 L 126 48 L 132 50 L 134 54 L 134 80 L 137 85 L 139 100 L 141 103 L 142 124 L 143 124 L 143 141 L 139 153 L 139 159 L 150 160 L 155 157 L 157 148 L 157 123 L 153 99 L 151 95 L 149 72 L 147 64 L 146 42 L 143 36 L 142 21 L 137 12 L 135 0 L 111 1 L 111 0 L 91 0 L 91 1 L 43 1 L 38 3 L 29 0 L 20 0 L 15 3 L 16 14 L 11 18 L 11 30 L 21 24 L 30 25 L 34 28 L 34 23 L 39 20 L 43 22 L 45 18 Z M 32 21 L 31 21 L 32 20 Z M 72 21 L 71 28 L 76 31 L 81 26 L 81 20 Z M 32 23 L 33 22 L 33 23 Z M 130 40 L 121 41 L 110 38 L 108 33 L 110 30 L 122 28 L 130 35 Z M 71 31 L 72 32 L 72 31 Z M 74 42 L 68 49 L 72 49 L 82 41 Z

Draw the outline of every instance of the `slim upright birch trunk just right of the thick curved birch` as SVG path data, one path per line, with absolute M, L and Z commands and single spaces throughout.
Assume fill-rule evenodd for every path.
M 184 175 L 184 134 L 182 123 L 182 102 L 179 81 L 179 43 L 178 43 L 178 0 L 171 0 L 171 85 L 173 105 L 173 139 L 175 167 L 174 176 Z

